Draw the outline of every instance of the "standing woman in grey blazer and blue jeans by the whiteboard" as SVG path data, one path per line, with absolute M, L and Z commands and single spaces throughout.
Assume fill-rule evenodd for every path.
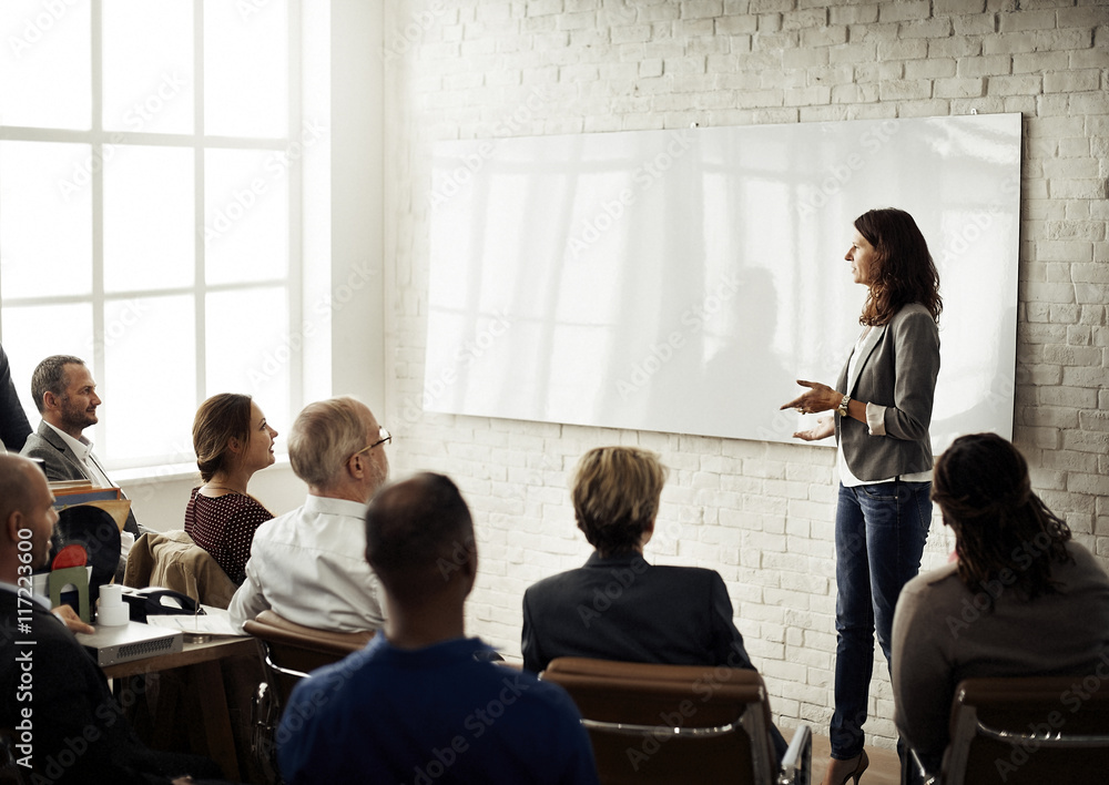
M 835 434 L 836 504 L 835 710 L 832 759 L 824 785 L 858 782 L 874 633 L 892 667 L 891 630 L 902 587 L 916 575 L 932 522 L 932 402 L 939 374 L 939 275 L 913 216 L 872 210 L 855 220 L 844 257 L 867 287 L 863 329 L 835 389 L 798 381 L 808 391 L 790 401 L 812 414 L 832 411 L 813 441 Z

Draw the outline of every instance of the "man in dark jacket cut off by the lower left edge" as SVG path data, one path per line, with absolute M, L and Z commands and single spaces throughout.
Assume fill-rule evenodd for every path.
M 218 777 L 206 758 L 143 745 L 103 672 L 31 593 L 31 571 L 50 557 L 57 519 L 42 471 L 26 458 L 0 456 L 0 727 L 14 732 L 17 764 L 34 782 L 59 785 Z

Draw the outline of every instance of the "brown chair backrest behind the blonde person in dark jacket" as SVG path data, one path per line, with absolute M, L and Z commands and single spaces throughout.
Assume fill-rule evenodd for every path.
M 560 657 L 542 677 L 578 705 L 603 785 L 773 782 L 755 671 Z

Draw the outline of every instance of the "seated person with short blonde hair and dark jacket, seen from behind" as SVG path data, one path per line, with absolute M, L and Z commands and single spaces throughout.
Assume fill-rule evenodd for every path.
M 587 452 L 573 480 L 578 528 L 597 550 L 584 567 L 543 579 L 523 594 L 523 666 L 559 656 L 754 669 L 714 570 L 653 567 L 667 470 L 630 447 Z

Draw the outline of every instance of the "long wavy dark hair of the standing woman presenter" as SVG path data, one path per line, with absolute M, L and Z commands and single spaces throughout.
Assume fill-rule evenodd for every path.
M 855 228 L 875 251 L 859 324 L 884 325 L 910 303 L 919 303 L 939 322 L 939 273 L 913 216 L 894 207 L 872 210 L 855 218 Z

